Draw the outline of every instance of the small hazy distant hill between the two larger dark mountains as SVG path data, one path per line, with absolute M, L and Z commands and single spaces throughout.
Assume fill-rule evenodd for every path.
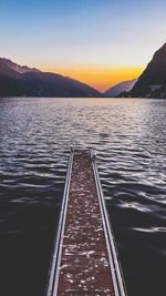
M 103 95 L 107 98 L 114 98 L 121 94 L 122 92 L 129 92 L 133 89 L 136 81 L 137 81 L 136 79 L 133 79 L 133 80 L 120 82 L 118 84 L 105 91 Z

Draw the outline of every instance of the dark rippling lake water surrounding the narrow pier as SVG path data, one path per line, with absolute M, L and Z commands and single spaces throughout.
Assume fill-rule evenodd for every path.
M 44 296 L 70 146 L 94 147 L 128 296 L 166 295 L 166 100 L 0 99 L 0 295 Z

